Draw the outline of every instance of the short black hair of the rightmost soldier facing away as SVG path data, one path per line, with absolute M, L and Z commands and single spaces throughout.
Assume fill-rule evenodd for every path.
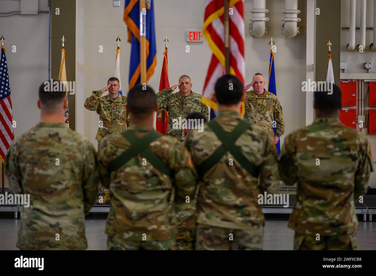
M 334 112 L 341 109 L 341 89 L 333 83 L 331 94 L 324 91 L 315 91 L 314 99 L 316 108 L 324 112 Z

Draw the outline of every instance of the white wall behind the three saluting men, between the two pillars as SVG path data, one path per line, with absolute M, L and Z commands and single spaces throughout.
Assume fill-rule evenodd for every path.
M 163 61 L 164 38 L 168 43 L 168 73 L 170 85 L 177 83 L 182 74 L 191 77 L 192 90 L 202 94 L 203 84 L 211 58 L 208 43 L 185 41 L 185 31 L 202 29 L 204 18 L 203 0 L 158 0 L 155 1 L 155 26 L 157 43 L 157 67 L 149 84 L 159 88 L 161 66 Z M 91 95 L 93 89 L 106 86 L 106 80 L 112 76 L 115 66 L 115 49 L 117 36 L 121 39 L 121 83 L 123 91 L 128 89 L 128 67 L 130 44 L 127 42 L 127 29 L 123 21 L 123 4 L 121 8 L 113 8 L 111 1 L 85 1 L 85 97 Z M 270 21 L 266 23 L 268 33 L 262 38 L 253 38 L 248 33 L 249 17 L 253 2 L 246 0 L 244 5 L 245 48 L 246 48 L 246 84 L 252 81 L 256 72 L 262 73 L 267 82 L 270 37 L 276 41 L 275 54 L 277 96 L 282 103 L 286 133 L 305 126 L 305 99 L 301 92 L 301 83 L 306 78 L 306 1 L 299 1 L 298 9 L 302 22 L 299 23 L 300 33 L 295 38 L 286 38 L 281 33 L 283 22 L 282 10 L 285 9 L 284 0 L 267 1 Z M 111 14 L 111 16 L 109 16 Z M 103 53 L 98 52 L 99 45 L 103 45 Z M 190 45 L 190 53 L 185 52 L 185 46 Z M 126 94 L 126 93 L 124 93 Z M 94 140 L 99 115 L 85 110 L 85 136 Z M 285 136 L 285 135 L 284 135 Z M 284 136 L 281 140 L 283 142 Z

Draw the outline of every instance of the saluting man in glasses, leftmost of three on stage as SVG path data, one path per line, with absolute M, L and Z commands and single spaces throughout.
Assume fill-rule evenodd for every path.
M 99 127 L 96 136 L 98 147 L 105 136 L 123 132 L 130 124 L 130 116 L 125 109 L 127 97 L 120 95 L 119 89 L 119 79 L 111 77 L 108 79 L 105 88 L 93 91 L 92 96 L 85 101 L 86 109 L 96 111 L 99 114 Z M 108 95 L 101 97 L 106 91 L 108 91 Z M 109 203 L 109 191 L 102 185 L 99 185 L 98 190 L 103 193 L 103 202 L 98 200 L 98 203 Z

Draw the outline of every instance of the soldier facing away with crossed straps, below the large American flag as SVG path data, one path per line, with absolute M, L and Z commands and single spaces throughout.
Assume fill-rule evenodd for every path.
M 196 250 L 262 249 L 258 195 L 277 190 L 276 152 L 265 130 L 241 117 L 244 94 L 237 77 L 218 79 L 215 98 L 219 115 L 185 142 L 200 176 Z

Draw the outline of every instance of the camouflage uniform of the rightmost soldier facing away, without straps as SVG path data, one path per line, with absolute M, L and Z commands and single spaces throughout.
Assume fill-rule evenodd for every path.
M 297 182 L 288 224 L 296 231 L 294 248 L 356 248 L 354 202 L 365 193 L 373 171 L 365 135 L 338 118 L 317 118 L 287 136 L 279 171 L 286 185 Z

